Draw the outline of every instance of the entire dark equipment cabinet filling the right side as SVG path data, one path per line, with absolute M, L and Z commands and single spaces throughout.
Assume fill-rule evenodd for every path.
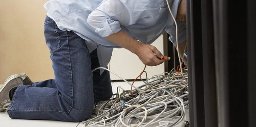
M 187 0 L 190 127 L 256 127 L 256 0 Z

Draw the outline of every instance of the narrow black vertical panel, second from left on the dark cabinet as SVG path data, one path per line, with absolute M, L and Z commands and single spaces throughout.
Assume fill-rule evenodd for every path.
M 212 0 L 202 0 L 202 50 L 204 70 L 205 127 L 217 127 L 217 98 Z

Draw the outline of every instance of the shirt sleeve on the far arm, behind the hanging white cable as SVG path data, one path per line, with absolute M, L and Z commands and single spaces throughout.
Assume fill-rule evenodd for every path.
M 177 28 L 178 28 L 178 43 L 182 43 L 186 40 L 186 22 L 177 21 Z M 167 28 L 166 32 L 170 34 L 169 40 L 174 44 L 176 43 L 176 28 L 175 25 Z

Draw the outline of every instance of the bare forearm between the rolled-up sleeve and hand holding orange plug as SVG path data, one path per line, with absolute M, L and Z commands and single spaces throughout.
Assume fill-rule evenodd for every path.
M 134 54 L 136 54 L 137 48 L 141 45 L 141 42 L 133 39 L 122 30 L 105 38 L 122 48 L 128 49 Z

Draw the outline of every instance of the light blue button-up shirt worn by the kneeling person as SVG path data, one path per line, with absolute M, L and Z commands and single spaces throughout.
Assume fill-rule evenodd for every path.
M 179 2 L 169 0 L 175 17 Z M 90 52 L 97 48 L 101 67 L 108 65 L 113 48 L 120 48 L 105 37 L 121 29 L 145 44 L 166 31 L 171 35 L 169 40 L 176 43 L 166 0 L 50 0 L 44 7 L 59 29 L 73 31 L 86 40 Z M 180 43 L 186 40 L 186 23 L 177 24 Z

